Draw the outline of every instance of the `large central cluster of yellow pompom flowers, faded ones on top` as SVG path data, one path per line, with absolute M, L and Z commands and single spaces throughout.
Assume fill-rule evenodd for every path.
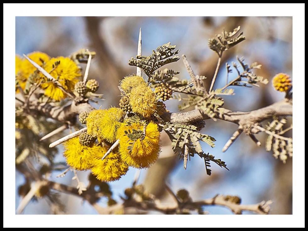
M 159 127 L 151 116 L 162 102 L 157 102 L 155 92 L 141 76 L 125 77 L 120 87 L 132 112 L 144 120 L 129 120 L 130 112 L 120 107 L 93 110 L 87 114 L 85 124 L 87 134 L 97 137 L 98 144 L 83 146 L 78 138 L 64 144 L 67 163 L 77 170 L 91 169 L 101 181 L 120 179 L 129 167 L 149 168 L 161 151 Z M 117 140 L 118 146 L 101 160 Z

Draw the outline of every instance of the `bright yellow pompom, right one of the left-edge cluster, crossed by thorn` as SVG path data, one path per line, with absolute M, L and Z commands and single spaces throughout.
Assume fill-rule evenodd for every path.
M 55 66 L 56 62 L 60 62 Z M 80 68 L 74 63 L 73 60 L 67 57 L 52 58 L 46 62 L 44 69 L 52 77 L 57 79 L 65 90 L 73 91 L 75 84 L 79 81 L 78 77 L 81 76 Z M 41 74 L 41 77 L 47 81 L 47 78 Z M 66 98 L 66 94 L 54 82 L 46 82 L 41 84 L 45 90 L 45 95 L 51 97 L 56 101 Z

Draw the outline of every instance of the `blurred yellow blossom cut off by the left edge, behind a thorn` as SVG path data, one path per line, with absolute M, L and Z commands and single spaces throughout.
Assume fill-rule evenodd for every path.
M 41 67 L 50 58 L 46 53 L 38 51 L 27 54 L 27 56 Z M 15 56 L 15 76 L 21 89 L 25 89 L 27 79 L 29 78 L 30 74 L 34 73 L 35 70 L 36 67 L 33 66 L 27 59 L 21 58 L 17 55 Z

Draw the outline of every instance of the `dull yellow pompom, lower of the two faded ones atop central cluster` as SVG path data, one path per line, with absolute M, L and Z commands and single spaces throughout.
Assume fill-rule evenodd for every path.
M 129 94 L 132 111 L 145 118 L 155 113 L 157 108 L 156 94 L 146 85 L 134 87 Z

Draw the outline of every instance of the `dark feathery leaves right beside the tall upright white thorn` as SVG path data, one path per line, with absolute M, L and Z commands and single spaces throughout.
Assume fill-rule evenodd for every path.
M 179 60 L 179 56 L 175 55 L 178 54 L 180 50 L 173 51 L 175 47 L 175 45 L 170 45 L 170 42 L 168 42 L 157 47 L 156 51 L 153 50 L 153 53 L 149 56 L 137 55 L 136 58 L 132 57 L 128 64 L 130 66 L 139 67 L 148 77 L 151 77 L 158 68 Z

